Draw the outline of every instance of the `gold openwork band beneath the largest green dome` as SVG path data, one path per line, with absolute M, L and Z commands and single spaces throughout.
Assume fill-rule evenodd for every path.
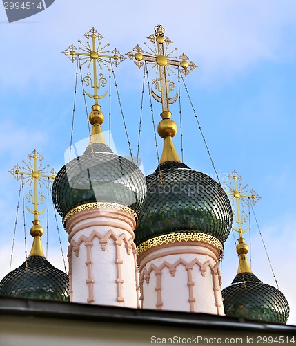
M 219 248 L 220 251 L 223 251 L 223 244 L 213 235 L 208 235 L 206 233 L 199 232 L 181 232 L 181 233 L 169 233 L 167 235 L 159 235 L 159 237 L 151 238 L 146 240 L 137 246 L 138 255 L 143 251 L 146 251 L 152 247 L 162 244 L 175 243 L 175 242 L 202 242 L 210 244 Z

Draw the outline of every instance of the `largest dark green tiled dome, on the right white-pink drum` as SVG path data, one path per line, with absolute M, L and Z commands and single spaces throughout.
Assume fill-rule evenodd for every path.
M 233 220 L 229 199 L 210 176 L 168 161 L 146 177 L 147 197 L 135 230 L 135 244 L 177 232 L 206 233 L 224 243 Z

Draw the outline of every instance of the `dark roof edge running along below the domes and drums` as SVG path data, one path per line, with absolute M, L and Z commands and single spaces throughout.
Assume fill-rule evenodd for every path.
M 146 325 L 170 325 L 203 329 L 239 329 L 240 331 L 266 331 L 268 333 L 296 334 L 296 326 L 262 323 L 243 318 L 210 315 L 208 313 L 186 313 L 130 309 L 48 300 L 0 297 L 0 315 L 34 316 L 68 320 L 92 320 L 101 322 L 139 323 Z

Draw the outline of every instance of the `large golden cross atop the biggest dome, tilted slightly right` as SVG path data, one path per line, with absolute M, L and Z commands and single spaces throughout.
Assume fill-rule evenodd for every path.
M 128 55 L 130 60 L 135 58 L 135 64 L 139 67 L 139 69 L 141 69 L 141 66 L 144 65 L 144 62 L 152 62 L 154 64 L 152 69 L 154 69 L 156 66 L 157 73 L 159 71 L 159 78 L 152 80 L 152 84 L 155 84 L 155 88 L 161 92 L 161 96 L 157 95 L 153 90 L 151 90 L 152 96 L 155 98 L 155 100 L 162 104 L 162 111 L 166 113 L 170 111 L 169 104 L 175 103 L 178 98 L 178 93 L 176 93 L 173 98 L 168 98 L 168 93 L 173 91 L 173 88 L 175 87 L 175 84 L 170 82 L 170 80 L 167 78 L 169 71 L 175 73 L 172 70 L 172 67 L 182 67 L 181 72 L 184 73 L 184 75 L 188 75 L 188 73 L 194 70 L 197 66 L 191 61 L 188 62 L 189 59 L 184 53 L 179 56 L 179 59 L 181 60 L 175 60 L 170 57 L 170 55 L 175 52 L 177 48 L 168 53 L 168 47 L 164 47 L 164 44 L 168 46 L 172 43 L 172 41 L 168 37 L 164 36 L 164 32 L 164 27 L 159 24 L 158 26 L 155 26 L 155 34 L 151 34 L 149 37 L 147 37 L 152 43 L 155 43 L 155 41 L 157 42 L 157 46 L 154 46 L 154 50 L 144 43 L 150 49 L 152 54 L 148 52 L 146 52 L 146 54 L 142 54 L 144 53 L 143 49 L 137 45 L 132 51 L 126 53 L 126 55 Z M 133 51 L 136 52 L 135 55 Z

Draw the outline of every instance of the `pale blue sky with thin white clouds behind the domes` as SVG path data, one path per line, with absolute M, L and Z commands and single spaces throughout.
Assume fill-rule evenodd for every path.
M 138 1 L 56 0 L 34 17 L 8 24 L 0 6 L 0 277 L 8 273 L 19 185 L 8 173 L 36 148 L 44 163 L 59 170 L 70 144 L 75 64 L 65 48 L 92 26 L 110 47 L 127 53 L 161 23 L 166 35 L 199 66 L 186 78 L 215 167 L 223 181 L 236 170 L 262 197 L 255 212 L 273 264 L 279 288 L 290 303 L 290 324 L 296 325 L 294 256 L 295 223 L 295 77 L 296 3 L 279 1 L 162 1 L 161 6 Z M 135 155 L 143 71 L 124 61 L 115 71 L 128 134 Z M 108 76 L 108 73 L 105 72 Z M 150 77 L 152 79 L 152 75 Z M 177 80 L 175 81 L 177 82 Z M 140 156 L 146 174 L 157 158 L 146 92 Z M 115 96 L 115 89 L 112 89 Z M 181 90 L 184 162 L 214 176 L 192 111 Z M 184 102 L 184 103 L 183 103 Z M 108 98 L 101 101 L 108 118 Z M 114 104 L 114 105 L 113 105 Z M 88 107 L 92 102 L 88 101 Z M 160 105 L 153 104 L 155 118 Z M 178 122 L 179 107 L 171 107 Z M 88 136 L 81 93 L 77 95 L 73 140 Z M 107 121 L 104 123 L 108 129 Z M 128 155 L 124 127 L 112 102 L 112 136 L 120 154 Z M 180 152 L 179 134 L 176 147 Z M 161 141 L 159 140 L 159 145 Z M 26 215 L 28 230 L 30 215 Z M 255 275 L 275 285 L 257 227 L 251 219 L 252 266 Z M 44 221 L 45 222 L 45 221 Z M 43 226 L 45 226 L 43 222 Z M 50 220 L 48 260 L 62 268 L 55 221 Z M 60 226 L 64 252 L 68 240 Z M 246 235 L 246 242 L 249 242 Z M 30 244 L 28 235 L 28 244 Z M 237 238 L 237 235 L 235 235 Z M 43 244 L 45 247 L 46 239 Z M 28 245 L 28 248 L 30 245 Z M 13 267 L 24 260 L 21 218 Z M 237 255 L 230 234 L 224 253 L 222 279 L 230 284 L 237 271 Z

